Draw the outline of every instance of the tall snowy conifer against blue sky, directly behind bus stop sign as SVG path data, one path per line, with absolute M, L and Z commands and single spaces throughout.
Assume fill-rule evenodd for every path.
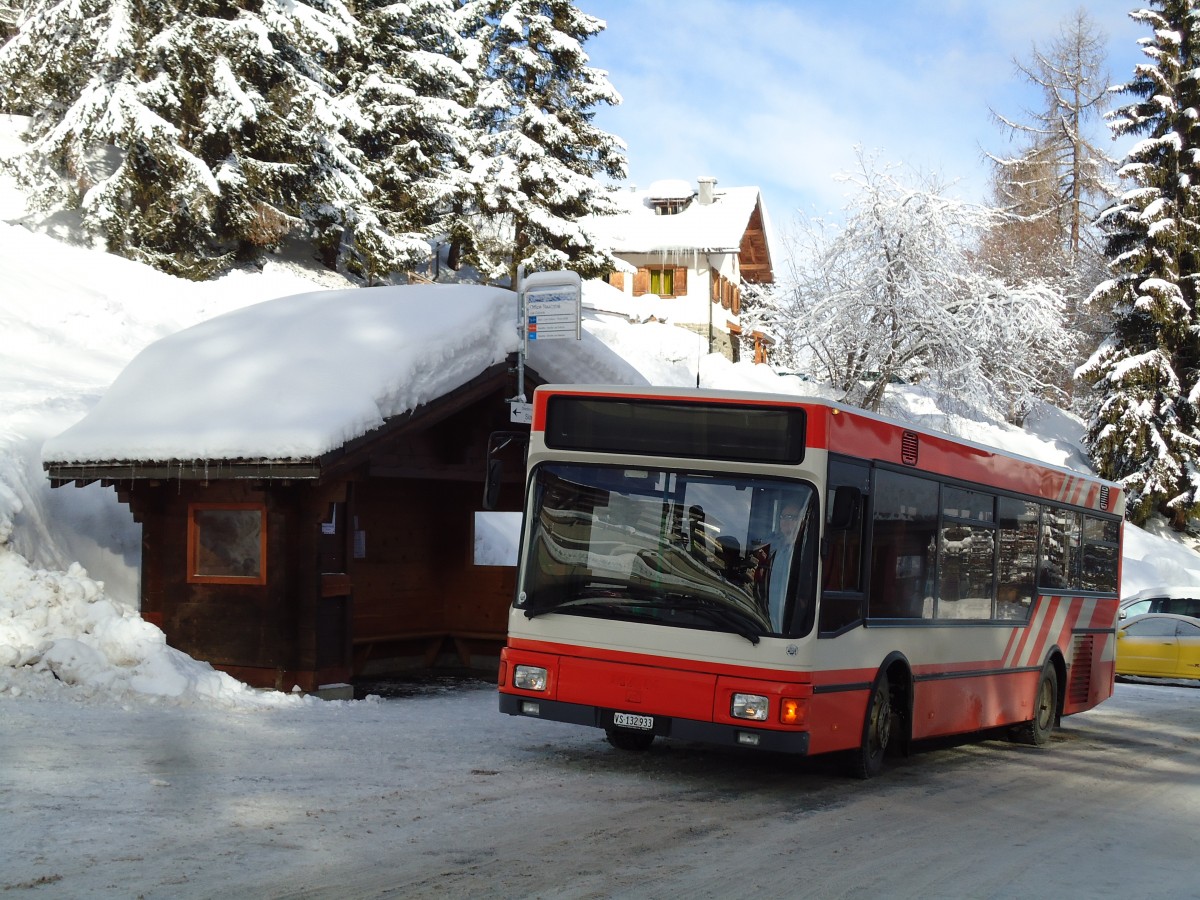
M 600 176 L 625 175 L 624 144 L 593 124 L 620 96 L 588 65 L 583 43 L 604 30 L 570 0 L 467 0 L 476 41 L 472 178 L 481 217 L 466 258 L 482 277 L 515 280 L 517 266 L 611 271 L 578 222 L 613 211 Z

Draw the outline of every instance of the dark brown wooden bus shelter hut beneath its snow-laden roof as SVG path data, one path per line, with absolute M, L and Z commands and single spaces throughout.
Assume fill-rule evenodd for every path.
M 247 684 L 318 691 L 439 661 L 486 668 L 515 570 L 474 565 L 473 521 L 490 434 L 521 427 L 515 389 L 511 366 L 494 365 L 316 458 L 46 468 L 55 487 L 116 488 L 142 524 L 142 616 Z M 498 508 L 520 510 L 522 458 L 506 452 Z

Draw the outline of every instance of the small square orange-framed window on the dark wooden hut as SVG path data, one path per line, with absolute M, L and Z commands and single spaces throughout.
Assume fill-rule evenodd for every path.
M 265 584 L 266 506 L 188 504 L 187 580 L 202 584 Z

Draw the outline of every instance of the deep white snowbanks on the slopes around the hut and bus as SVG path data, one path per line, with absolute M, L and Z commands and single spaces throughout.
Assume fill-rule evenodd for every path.
M 0 121 L 0 154 L 17 146 L 12 128 L 4 125 Z M 148 384 L 157 383 L 181 390 L 184 376 L 198 378 L 196 372 L 172 373 L 169 359 L 163 362 L 173 341 L 222 330 L 228 341 L 244 340 L 238 335 L 268 328 L 286 306 L 265 302 L 274 298 L 308 294 L 290 302 L 307 302 L 317 310 L 322 300 L 325 306 L 335 300 L 340 307 L 354 307 L 365 295 L 346 292 L 314 300 L 310 292 L 344 288 L 346 282 L 284 260 L 262 272 L 235 272 L 209 283 L 174 278 L 37 233 L 37 227 L 61 229 L 62 222 L 26 216 L 20 196 L 4 182 L 0 214 L 8 220 L 0 222 L 0 283 L 6 286 L 0 294 L 0 698 L 233 708 L 311 706 L 314 701 L 306 697 L 252 691 L 168 647 L 162 631 L 137 612 L 139 534 L 128 510 L 110 488 L 98 485 L 50 491 L 41 463 L 47 442 L 53 448 L 59 434 L 97 409 L 109 388 L 115 394 L 126 383 L 137 383 L 138 390 L 145 391 Z M 18 220 L 20 224 L 14 223 Z M 403 302 L 398 298 L 412 289 L 383 290 Z M 457 302 L 463 290 L 446 288 L 439 295 L 445 298 L 442 308 L 449 318 L 446 305 Z M 490 298 L 486 314 L 473 312 L 468 302 L 472 314 L 454 328 L 415 335 L 413 346 L 424 355 L 414 350 L 406 356 L 408 367 L 396 371 L 396 390 L 385 398 L 395 407 L 390 412 L 427 400 L 412 388 L 424 390 L 434 372 L 444 376 L 456 359 L 474 354 L 491 361 L 511 348 L 515 305 L 511 331 L 496 306 L 503 304 L 506 292 L 473 290 L 472 296 Z M 586 380 L 601 383 L 698 383 L 810 395 L 821 390 L 794 376 L 776 376 L 766 366 L 734 365 L 708 355 L 698 335 L 661 322 L 637 322 L 635 311 L 616 294 L 606 286 L 588 284 L 584 342 L 542 344 L 532 353 L 530 365 L 563 380 L 582 380 L 571 376 L 586 374 Z M 472 326 L 473 322 L 486 326 Z M 316 347 L 313 331 L 302 329 L 310 348 Z M 170 341 L 157 343 L 137 365 L 130 365 L 168 336 L 173 336 Z M 144 366 L 145 359 L 155 365 Z M 235 380 L 229 390 L 238 390 L 245 379 Z M 382 406 L 372 407 L 377 401 L 366 397 L 360 403 L 362 408 L 355 413 L 359 425 L 370 427 L 372 416 L 388 414 Z M 248 402 L 247 409 L 253 413 L 265 402 L 259 397 Z M 148 410 L 152 416 L 138 427 L 152 425 L 152 419 L 170 422 L 169 404 L 150 407 L 148 400 Z M 893 397 L 888 412 L 1055 464 L 1086 464 L 1078 449 L 1079 422 L 1058 410 L 1040 410 L 1031 418 L 1030 430 L 1022 431 L 1003 422 L 948 415 L 919 391 L 907 391 Z M 115 424 L 120 426 L 121 420 Z M 304 436 L 310 443 L 300 451 L 328 442 L 330 428 L 342 425 L 337 421 L 316 436 Z M 133 427 L 130 425 L 130 433 Z M 138 433 L 149 442 L 152 428 Z M 70 440 L 68 432 L 60 443 L 68 446 Z M 1154 583 L 1195 582 L 1200 582 L 1200 557 L 1174 540 L 1127 529 L 1124 593 Z

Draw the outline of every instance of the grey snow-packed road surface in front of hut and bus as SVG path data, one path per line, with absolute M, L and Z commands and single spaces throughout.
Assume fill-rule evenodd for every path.
M 228 712 L 0 698 L 0 893 L 30 898 L 1200 895 L 1200 688 L 872 781 L 644 755 L 487 685 Z

